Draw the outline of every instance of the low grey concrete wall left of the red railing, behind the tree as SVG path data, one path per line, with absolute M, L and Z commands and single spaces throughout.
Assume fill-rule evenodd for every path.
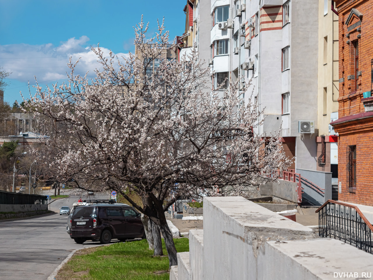
M 268 182 L 260 186 L 260 195 L 273 195 L 298 203 L 297 183 L 280 179 L 278 182 Z

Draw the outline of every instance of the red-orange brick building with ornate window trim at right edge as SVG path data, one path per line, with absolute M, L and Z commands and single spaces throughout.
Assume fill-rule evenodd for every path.
M 339 200 L 373 206 L 373 1 L 336 0 L 335 4 L 339 119 L 331 124 L 339 134 Z

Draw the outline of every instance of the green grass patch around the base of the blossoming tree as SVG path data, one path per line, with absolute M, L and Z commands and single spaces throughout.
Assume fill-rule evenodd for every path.
M 178 238 L 173 241 L 178 252 L 189 251 L 188 239 Z M 163 240 L 162 245 L 163 253 L 166 254 Z M 97 247 L 87 255 L 73 256 L 63 267 L 59 275 L 61 278 L 56 279 L 71 279 L 69 277 L 79 271 L 89 271 L 81 274 L 79 279 L 168 280 L 168 269 L 167 256 L 153 257 L 153 251 L 149 250 L 147 241 L 140 240 Z M 68 271 L 71 276 L 66 274 Z

